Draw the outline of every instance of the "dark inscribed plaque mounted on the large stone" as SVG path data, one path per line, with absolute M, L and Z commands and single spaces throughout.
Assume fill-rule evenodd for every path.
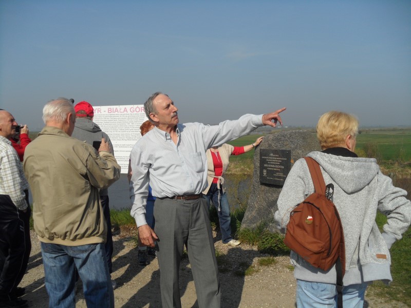
M 260 183 L 283 186 L 290 168 L 290 150 L 260 150 Z

